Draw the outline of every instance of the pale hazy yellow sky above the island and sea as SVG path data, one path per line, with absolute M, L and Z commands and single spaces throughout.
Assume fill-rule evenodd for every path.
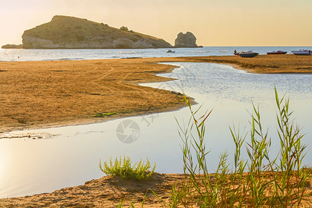
M 54 15 L 80 17 L 174 44 L 190 31 L 202 46 L 312 46 L 312 0 L 0 0 L 0 45 Z

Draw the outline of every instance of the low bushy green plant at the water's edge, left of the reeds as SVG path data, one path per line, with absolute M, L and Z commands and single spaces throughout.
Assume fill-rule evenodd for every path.
M 100 160 L 99 167 L 106 175 L 120 175 L 123 178 L 134 178 L 135 180 L 141 180 L 144 177 L 150 177 L 156 168 L 156 163 L 152 167 L 147 157 L 146 163 L 142 162 L 142 160 L 140 160 L 140 162 L 136 162 L 134 166 L 131 166 L 131 163 L 132 162 L 129 157 L 124 156 L 123 159 L 121 159 L 121 157 L 116 157 L 114 162 L 112 161 L 111 157 L 110 162 L 104 162 L 103 166 Z

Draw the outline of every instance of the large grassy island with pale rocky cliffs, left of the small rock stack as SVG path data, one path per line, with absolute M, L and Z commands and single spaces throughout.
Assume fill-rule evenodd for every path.
M 24 31 L 24 49 L 146 49 L 171 48 L 165 40 L 113 28 L 77 17 L 54 16 L 40 26 Z

